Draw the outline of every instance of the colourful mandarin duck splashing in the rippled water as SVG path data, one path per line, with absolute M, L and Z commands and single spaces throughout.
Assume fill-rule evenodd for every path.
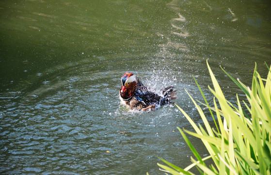
M 131 72 L 126 72 L 121 77 L 122 87 L 119 97 L 123 104 L 128 105 L 131 110 L 156 110 L 159 106 L 173 104 L 172 100 L 177 98 L 173 86 L 163 88 L 156 93 L 143 83 Z

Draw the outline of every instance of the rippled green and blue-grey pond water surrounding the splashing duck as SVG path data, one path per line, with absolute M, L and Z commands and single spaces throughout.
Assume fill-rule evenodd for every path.
M 267 0 L 1 0 L 0 23 L 0 174 L 163 174 L 158 157 L 184 168 L 188 121 L 175 105 L 129 111 L 121 76 L 175 86 L 202 123 L 184 89 L 203 101 L 194 76 L 212 101 L 207 59 L 230 102 L 240 90 L 220 65 L 250 86 L 255 62 L 263 77 L 271 64 Z

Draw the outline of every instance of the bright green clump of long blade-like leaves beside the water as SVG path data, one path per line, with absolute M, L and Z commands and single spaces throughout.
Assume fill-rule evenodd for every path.
M 172 175 L 194 175 L 190 171 L 192 167 L 196 167 L 202 175 L 271 175 L 271 68 L 268 68 L 267 79 L 263 79 L 255 65 L 251 88 L 245 86 L 239 79 L 235 80 L 221 68 L 247 98 L 247 102 L 242 101 L 244 105 L 241 105 L 236 95 L 236 105 L 233 105 L 224 97 L 208 62 L 207 67 L 214 87 L 214 89 L 208 87 L 214 95 L 213 107 L 209 106 L 203 91 L 196 80 L 195 82 L 205 101 L 205 104 L 201 104 L 209 109 L 213 119 L 215 115 L 217 117 L 214 120 L 216 129 L 208 123 L 206 114 L 198 105 L 200 102 L 196 102 L 187 91 L 206 129 L 200 124 L 196 125 L 182 108 L 176 106 L 195 130 L 195 132 L 185 129 L 183 131 L 201 139 L 209 156 L 202 158 L 182 129 L 178 128 L 195 158 L 191 157 L 192 164 L 184 169 L 160 158 L 166 165 L 158 163 L 159 167 Z M 205 160 L 209 158 L 213 163 L 208 166 Z

